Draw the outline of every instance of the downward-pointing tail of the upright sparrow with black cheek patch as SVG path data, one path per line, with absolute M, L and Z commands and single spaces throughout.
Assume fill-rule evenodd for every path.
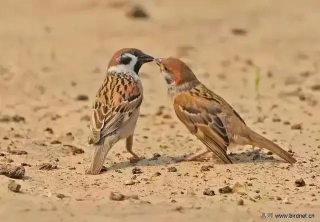
M 98 144 L 93 145 L 91 163 L 85 171 L 86 174 L 100 173 L 107 153 L 118 140 L 117 136 L 107 136 L 101 138 Z

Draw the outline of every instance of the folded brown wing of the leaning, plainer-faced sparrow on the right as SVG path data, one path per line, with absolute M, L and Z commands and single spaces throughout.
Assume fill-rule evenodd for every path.
M 226 154 L 229 139 L 223 122 L 217 115 L 221 110 L 204 98 L 182 92 L 174 98 L 177 117 L 192 134 L 198 137 L 218 158 L 232 163 Z

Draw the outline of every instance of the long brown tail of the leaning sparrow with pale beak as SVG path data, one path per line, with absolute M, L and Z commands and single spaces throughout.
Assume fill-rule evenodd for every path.
M 249 139 L 250 145 L 258 146 L 260 148 L 266 148 L 266 149 L 270 150 L 271 152 L 279 155 L 280 157 L 282 157 L 285 161 L 287 161 L 289 163 L 296 162 L 296 159 L 293 158 L 287 151 L 282 149 L 280 146 L 278 146 L 277 144 L 275 144 L 271 140 L 265 138 L 264 136 L 256 133 L 252 129 L 248 129 L 248 130 L 249 130 L 249 133 L 248 133 L 249 138 L 248 139 Z

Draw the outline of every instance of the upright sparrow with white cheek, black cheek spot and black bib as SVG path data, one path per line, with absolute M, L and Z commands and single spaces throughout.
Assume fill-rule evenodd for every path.
M 119 139 L 126 139 L 126 150 L 139 158 L 132 151 L 143 95 L 138 72 L 142 64 L 153 60 L 136 48 L 122 48 L 111 57 L 92 106 L 88 143 L 93 144 L 93 152 L 86 174 L 100 172 L 108 151 Z

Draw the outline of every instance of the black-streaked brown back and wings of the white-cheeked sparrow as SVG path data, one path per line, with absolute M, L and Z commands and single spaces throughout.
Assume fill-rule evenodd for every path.
M 124 74 L 107 76 L 92 107 L 91 143 L 121 127 L 141 102 L 142 92 L 132 77 Z

